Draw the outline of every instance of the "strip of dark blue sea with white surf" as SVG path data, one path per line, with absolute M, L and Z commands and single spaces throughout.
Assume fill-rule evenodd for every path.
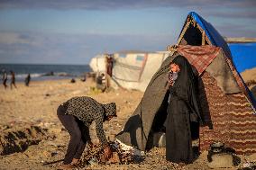
M 10 71 L 14 71 L 17 82 L 24 81 L 28 74 L 31 74 L 32 81 L 40 81 L 82 77 L 92 71 L 89 65 L 0 64 L 1 74 L 3 70 L 7 72 L 8 80 L 11 78 Z

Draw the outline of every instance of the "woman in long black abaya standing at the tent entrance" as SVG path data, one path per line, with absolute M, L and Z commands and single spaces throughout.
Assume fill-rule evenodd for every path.
M 200 122 L 195 76 L 187 58 L 173 59 L 169 73 L 169 107 L 166 126 L 166 159 L 175 163 L 193 160 L 191 121 Z

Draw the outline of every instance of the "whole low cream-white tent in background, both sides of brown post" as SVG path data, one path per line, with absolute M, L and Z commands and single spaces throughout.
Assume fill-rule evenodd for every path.
M 105 72 L 105 56 L 93 58 L 90 67 L 93 71 Z M 114 58 L 110 85 L 126 89 L 145 91 L 151 77 L 169 56 L 169 52 L 120 52 L 111 55 Z M 97 63 L 97 64 L 96 64 Z M 100 63 L 100 64 L 99 64 Z

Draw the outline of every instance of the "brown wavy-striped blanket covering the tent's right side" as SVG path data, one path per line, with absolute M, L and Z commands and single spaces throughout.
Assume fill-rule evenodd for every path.
M 224 94 L 215 78 L 204 72 L 199 101 L 208 126 L 200 128 L 200 149 L 222 141 L 238 154 L 256 153 L 256 115 L 243 93 Z M 212 125 L 211 125 L 212 124 Z

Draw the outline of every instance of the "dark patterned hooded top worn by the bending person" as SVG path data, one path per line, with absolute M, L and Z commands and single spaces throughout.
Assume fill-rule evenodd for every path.
M 78 120 L 83 121 L 87 127 L 87 134 L 89 134 L 89 126 L 92 121 L 96 121 L 96 135 L 103 146 L 107 145 L 105 132 L 103 129 L 103 122 L 107 116 L 116 116 L 115 103 L 97 103 L 91 97 L 73 97 L 63 105 L 67 105 L 66 114 L 73 115 Z

